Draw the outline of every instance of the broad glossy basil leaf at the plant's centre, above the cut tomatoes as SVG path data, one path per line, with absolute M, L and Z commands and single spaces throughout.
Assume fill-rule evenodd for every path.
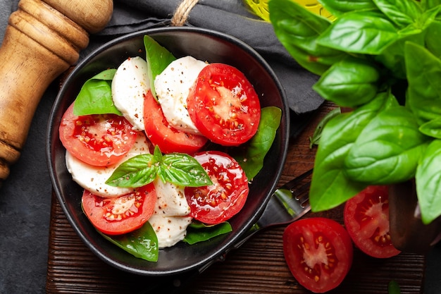
M 411 111 L 396 106 L 381 111 L 360 133 L 344 161 L 351 180 L 387 185 L 415 176 L 428 137 L 418 130 Z

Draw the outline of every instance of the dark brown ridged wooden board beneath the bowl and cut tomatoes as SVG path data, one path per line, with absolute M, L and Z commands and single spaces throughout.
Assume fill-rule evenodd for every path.
M 324 104 L 291 143 L 280 185 L 312 168 L 316 150 L 309 148 L 308 138 L 332 107 Z M 73 231 L 54 195 L 52 200 L 47 293 L 142 293 L 146 285 L 158 281 L 119 271 L 95 257 Z M 342 223 L 342 207 L 307 215 L 310 216 L 326 216 Z M 285 264 L 284 228 L 268 228 L 257 233 L 242 247 L 228 253 L 225 261 L 206 269 L 182 293 L 310 293 L 295 281 Z M 391 280 L 399 283 L 402 294 L 422 293 L 425 264 L 423 255 L 402 253 L 390 259 L 374 259 L 355 249 L 347 278 L 329 293 L 387 294 L 387 283 Z

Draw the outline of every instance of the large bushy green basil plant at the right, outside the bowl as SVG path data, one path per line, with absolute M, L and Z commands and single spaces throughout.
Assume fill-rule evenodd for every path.
M 325 124 L 313 211 L 367 185 L 415 179 L 423 223 L 441 215 L 441 0 L 321 0 L 331 22 L 294 0 L 268 4 L 275 34 L 316 75 L 313 90 L 351 109 Z

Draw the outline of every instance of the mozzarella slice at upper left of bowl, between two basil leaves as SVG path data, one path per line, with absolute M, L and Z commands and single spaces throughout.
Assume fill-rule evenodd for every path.
M 112 80 L 116 108 L 136 130 L 144 130 L 144 94 L 150 90 L 147 62 L 141 57 L 126 59 Z

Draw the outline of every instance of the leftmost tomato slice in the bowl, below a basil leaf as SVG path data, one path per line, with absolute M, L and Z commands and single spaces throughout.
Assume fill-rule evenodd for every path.
M 75 116 L 73 104 L 63 114 L 59 133 L 70 154 L 93 166 L 115 164 L 132 148 L 137 137 L 123 116 Z

